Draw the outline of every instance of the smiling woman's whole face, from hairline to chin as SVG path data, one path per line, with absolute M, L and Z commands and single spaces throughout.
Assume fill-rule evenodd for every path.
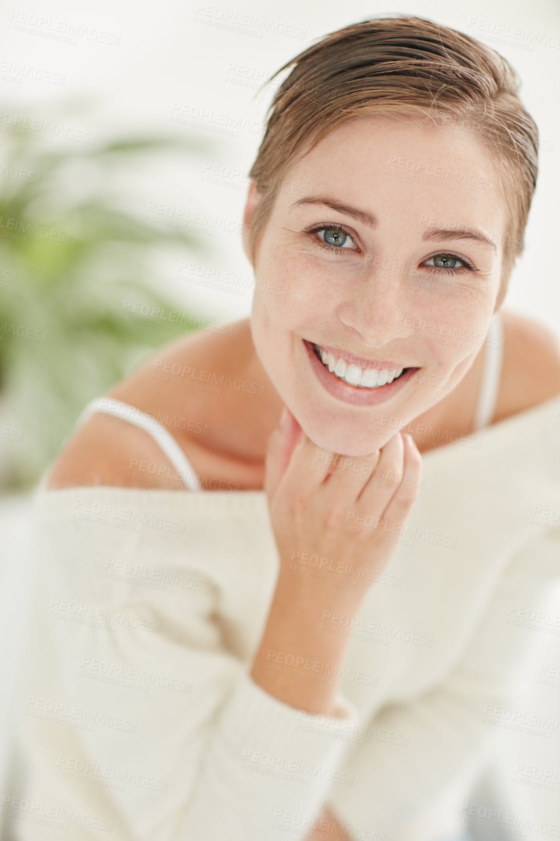
M 453 134 L 351 119 L 290 169 L 258 241 L 256 352 L 330 452 L 383 447 L 455 388 L 483 346 L 505 201 L 489 152 Z M 374 413 L 387 415 L 386 435 Z

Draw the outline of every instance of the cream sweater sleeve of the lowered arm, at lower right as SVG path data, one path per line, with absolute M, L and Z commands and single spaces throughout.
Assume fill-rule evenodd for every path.
M 542 634 L 560 634 L 560 617 L 547 610 L 559 575 L 560 532 L 533 536 L 510 558 L 444 680 L 421 696 L 383 706 L 368 722 L 365 742 L 352 748 L 342 769 L 353 775 L 353 785 L 332 786 L 328 798 L 352 838 L 433 838 L 431 821 L 442 806 L 452 821 L 444 833 L 459 834 L 476 807 L 463 801 L 465 791 L 494 738 L 513 728 L 550 738 L 557 722 L 527 710 L 520 691 Z M 378 738 L 383 731 L 404 734 L 406 746 Z

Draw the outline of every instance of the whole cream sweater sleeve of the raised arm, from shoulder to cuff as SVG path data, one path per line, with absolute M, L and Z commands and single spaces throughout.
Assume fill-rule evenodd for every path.
M 31 771 L 8 806 L 88 816 L 62 827 L 70 841 L 277 841 L 294 814 L 304 828 L 356 709 L 339 694 L 333 717 L 310 717 L 267 694 L 230 650 L 188 531 L 99 511 L 38 526 L 17 735 Z M 14 823 L 22 841 L 61 829 Z

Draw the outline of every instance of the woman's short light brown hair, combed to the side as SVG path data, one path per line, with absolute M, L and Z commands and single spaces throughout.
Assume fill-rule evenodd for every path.
M 253 254 L 289 167 L 346 120 L 380 114 L 453 130 L 458 124 L 494 155 L 509 211 L 498 307 L 524 248 L 538 168 L 538 130 L 520 102 L 510 64 L 455 29 L 399 16 L 325 35 L 268 82 L 292 65 L 268 108 L 267 131 L 249 173 L 259 193 L 251 219 Z

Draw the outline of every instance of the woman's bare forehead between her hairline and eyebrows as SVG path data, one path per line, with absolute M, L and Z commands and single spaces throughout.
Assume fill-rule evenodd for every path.
M 280 198 L 291 216 L 302 208 L 335 210 L 381 230 L 394 220 L 424 228 L 437 217 L 445 227 L 499 229 L 505 197 L 494 161 L 473 143 L 453 140 L 411 122 L 342 125 L 288 174 Z M 325 201 L 323 201 L 325 199 Z M 357 212 L 352 212 L 357 211 Z

